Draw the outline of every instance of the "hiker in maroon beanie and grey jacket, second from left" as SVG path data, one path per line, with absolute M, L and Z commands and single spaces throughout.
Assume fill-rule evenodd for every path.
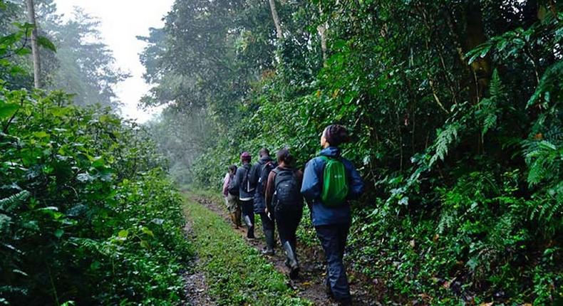
M 247 238 L 254 239 L 254 187 L 249 181 L 251 159 L 248 152 L 242 152 L 240 155 L 242 167 L 239 167 L 234 174 L 233 188 L 239 190 L 242 220 L 247 226 Z

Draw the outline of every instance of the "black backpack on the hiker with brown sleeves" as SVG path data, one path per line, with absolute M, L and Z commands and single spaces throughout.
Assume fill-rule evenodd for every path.
M 276 174 L 274 179 L 274 211 L 299 211 L 303 209 L 301 186 L 294 170 L 272 170 Z

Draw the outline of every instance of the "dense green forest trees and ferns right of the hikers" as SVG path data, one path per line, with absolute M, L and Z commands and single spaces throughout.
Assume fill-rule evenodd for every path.
M 143 102 L 168 105 L 155 139 L 200 186 L 243 150 L 304 164 L 346 125 L 370 187 L 347 258 L 387 298 L 546 305 L 563 295 L 562 9 L 177 0 L 143 38 Z

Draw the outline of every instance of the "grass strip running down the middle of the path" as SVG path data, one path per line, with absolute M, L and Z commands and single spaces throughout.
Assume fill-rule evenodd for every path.
M 296 297 L 286 276 L 248 246 L 220 216 L 186 199 L 193 243 L 217 305 L 312 305 Z

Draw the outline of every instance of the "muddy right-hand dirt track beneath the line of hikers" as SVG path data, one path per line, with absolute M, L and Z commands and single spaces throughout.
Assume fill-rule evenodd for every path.
M 226 209 L 224 209 L 223 205 L 217 204 L 215 203 L 215 201 L 212 201 L 211 199 L 203 196 L 190 195 L 190 198 L 193 201 L 206 206 L 208 209 L 214 211 L 219 216 L 222 216 L 222 218 L 230 223 L 230 219 L 227 216 L 227 211 Z M 255 231 L 255 236 L 257 237 L 256 239 L 246 239 L 245 228 L 236 229 L 233 227 L 233 231 L 237 231 L 241 236 L 244 237 L 244 239 L 247 241 L 247 243 L 249 243 L 250 246 L 253 246 L 257 250 L 262 250 L 262 248 L 265 247 L 264 234 L 262 233 L 260 224 L 257 224 Z M 304 297 L 305 299 L 314 302 L 314 305 L 338 305 L 336 302 L 327 297 L 324 290 L 323 280 L 325 277 L 326 266 L 324 265 L 324 255 L 322 250 L 318 248 L 304 248 L 304 246 L 298 246 L 298 254 L 299 264 L 301 267 L 300 277 L 299 280 L 289 280 L 288 285 L 296 290 L 300 297 Z M 284 274 L 287 274 L 289 272 L 284 264 L 284 253 L 282 253 L 279 248 L 277 249 L 276 255 L 268 255 L 266 257 L 275 265 L 277 270 L 279 270 L 280 272 Z M 350 278 L 350 276 L 350 273 L 348 273 L 348 278 Z M 350 279 L 356 280 L 350 283 L 353 305 L 381 305 L 380 302 L 377 302 L 378 299 L 375 292 L 376 288 L 372 285 L 371 282 L 369 282 L 365 278 L 362 278 L 361 275 L 356 274 L 354 274 L 353 278 Z

